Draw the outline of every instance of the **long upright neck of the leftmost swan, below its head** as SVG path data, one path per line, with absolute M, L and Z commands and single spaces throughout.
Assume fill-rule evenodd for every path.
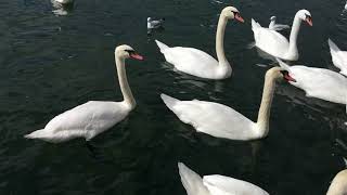
M 124 102 L 130 107 L 130 109 L 133 109 L 137 105 L 137 102 L 132 96 L 132 93 L 128 83 L 127 73 L 125 68 L 125 60 L 116 56 L 116 67 L 117 67 L 118 81 L 119 81 L 119 87 L 124 98 Z

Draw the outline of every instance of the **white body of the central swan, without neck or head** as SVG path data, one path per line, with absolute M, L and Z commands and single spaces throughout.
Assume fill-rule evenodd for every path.
M 226 105 L 198 100 L 179 101 L 165 94 L 162 99 L 181 121 L 196 131 L 231 140 L 258 139 L 256 123 Z

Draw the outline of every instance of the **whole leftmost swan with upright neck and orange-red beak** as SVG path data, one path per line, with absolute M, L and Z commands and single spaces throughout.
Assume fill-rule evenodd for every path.
M 121 121 L 136 107 L 136 101 L 128 84 L 125 60 L 143 57 L 129 46 L 118 46 L 115 49 L 115 61 L 123 102 L 89 101 L 74 107 L 47 123 L 44 129 L 25 135 L 27 139 L 40 139 L 47 142 L 60 143 L 75 138 L 91 140 L 117 122 Z

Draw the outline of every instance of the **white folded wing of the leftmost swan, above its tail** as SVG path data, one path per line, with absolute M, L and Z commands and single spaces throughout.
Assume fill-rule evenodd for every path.
M 123 120 L 128 113 L 121 103 L 90 101 L 54 117 L 44 129 L 102 130 Z

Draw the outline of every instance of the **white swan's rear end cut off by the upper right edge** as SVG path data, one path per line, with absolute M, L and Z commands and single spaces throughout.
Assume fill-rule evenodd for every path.
M 330 53 L 332 54 L 333 64 L 340 69 L 340 74 L 347 76 L 347 52 L 340 51 L 339 48 L 331 40 L 327 40 Z

